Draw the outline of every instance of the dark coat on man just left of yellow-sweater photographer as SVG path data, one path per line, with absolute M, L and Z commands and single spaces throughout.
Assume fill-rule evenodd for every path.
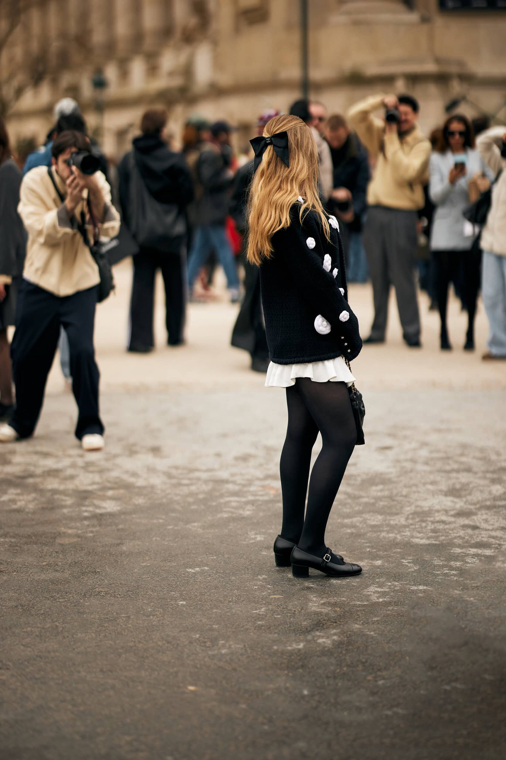
M 357 135 L 352 133 L 348 135 L 343 147 L 338 150 L 331 148 L 330 152 L 334 164 L 334 188 L 347 188 L 352 195 L 355 218 L 348 224 L 348 228 L 359 232 L 366 211 L 367 185 L 370 179 L 367 151 Z M 332 198 L 328 201 L 328 207 L 335 214 L 336 204 Z

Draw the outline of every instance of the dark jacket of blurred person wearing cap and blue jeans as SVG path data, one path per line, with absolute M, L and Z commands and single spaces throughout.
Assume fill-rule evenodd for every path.
M 193 226 L 225 224 L 232 173 L 222 151 L 214 143 L 203 143 L 187 154 L 195 183 L 195 200 L 188 209 Z

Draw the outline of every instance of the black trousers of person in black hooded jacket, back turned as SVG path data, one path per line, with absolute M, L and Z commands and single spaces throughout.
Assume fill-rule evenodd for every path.
M 177 346 L 183 340 L 187 302 L 186 254 L 174 255 L 141 249 L 134 256 L 134 282 L 130 300 L 130 337 L 128 348 L 155 345 L 153 335 L 153 306 L 155 276 L 162 270 L 165 285 L 165 325 L 168 344 Z

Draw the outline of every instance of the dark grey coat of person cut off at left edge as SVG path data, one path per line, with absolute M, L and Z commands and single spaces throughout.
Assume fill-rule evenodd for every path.
M 0 166 L 0 274 L 23 274 L 27 233 L 17 213 L 23 175 L 12 159 Z

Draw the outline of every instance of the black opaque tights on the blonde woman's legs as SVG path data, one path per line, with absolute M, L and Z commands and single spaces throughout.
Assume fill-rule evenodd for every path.
M 313 382 L 297 378 L 287 388 L 288 429 L 281 452 L 283 492 L 281 536 L 307 552 L 325 547 L 325 527 L 348 460 L 357 429 L 344 382 Z M 318 432 L 322 451 L 313 466 L 306 505 L 311 451 Z

